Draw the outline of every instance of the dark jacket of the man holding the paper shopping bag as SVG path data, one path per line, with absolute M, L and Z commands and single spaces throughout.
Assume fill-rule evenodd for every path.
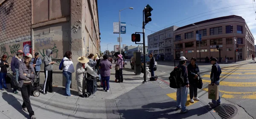
M 220 75 L 221 75 L 221 67 L 216 63 L 212 65 L 212 71 L 211 71 L 211 81 L 215 82 L 220 80 Z

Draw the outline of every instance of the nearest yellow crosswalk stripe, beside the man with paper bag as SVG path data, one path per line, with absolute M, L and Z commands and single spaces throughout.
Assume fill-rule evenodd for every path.
M 207 91 L 208 89 L 202 89 Z M 256 92 L 229 92 L 229 91 L 220 91 L 223 95 L 221 97 L 228 99 L 256 99 Z

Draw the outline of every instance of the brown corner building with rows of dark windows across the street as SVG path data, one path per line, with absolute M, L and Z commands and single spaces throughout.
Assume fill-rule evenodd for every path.
M 221 61 L 242 61 L 252 58 L 255 54 L 254 37 L 250 32 L 245 20 L 242 17 L 231 15 L 226 17 L 218 17 L 196 22 L 201 34 L 201 61 L 205 57 L 219 58 L 219 52 L 216 49 L 218 45 L 221 49 Z M 196 33 L 198 28 L 195 25 L 186 25 L 177 28 L 174 32 L 174 57 L 185 56 L 189 60 L 196 57 L 199 61 L 199 42 L 196 41 Z M 233 25 L 233 33 L 230 31 L 230 25 Z M 235 46 L 234 35 L 236 36 Z M 238 52 L 235 54 L 235 50 Z

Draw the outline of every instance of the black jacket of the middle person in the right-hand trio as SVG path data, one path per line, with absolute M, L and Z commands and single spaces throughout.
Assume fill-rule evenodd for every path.
M 199 67 L 197 64 L 195 64 L 195 67 L 192 64 L 189 64 L 188 66 L 188 77 L 189 77 L 189 83 L 195 84 L 197 79 L 194 79 L 195 75 L 198 75 L 199 77 Z

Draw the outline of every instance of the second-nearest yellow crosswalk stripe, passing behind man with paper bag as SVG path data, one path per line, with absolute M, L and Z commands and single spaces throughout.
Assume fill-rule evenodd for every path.
M 210 80 L 202 80 L 203 83 L 211 83 Z M 221 86 L 232 86 L 232 87 L 255 87 L 256 82 L 226 82 L 226 81 L 221 81 L 220 82 Z

